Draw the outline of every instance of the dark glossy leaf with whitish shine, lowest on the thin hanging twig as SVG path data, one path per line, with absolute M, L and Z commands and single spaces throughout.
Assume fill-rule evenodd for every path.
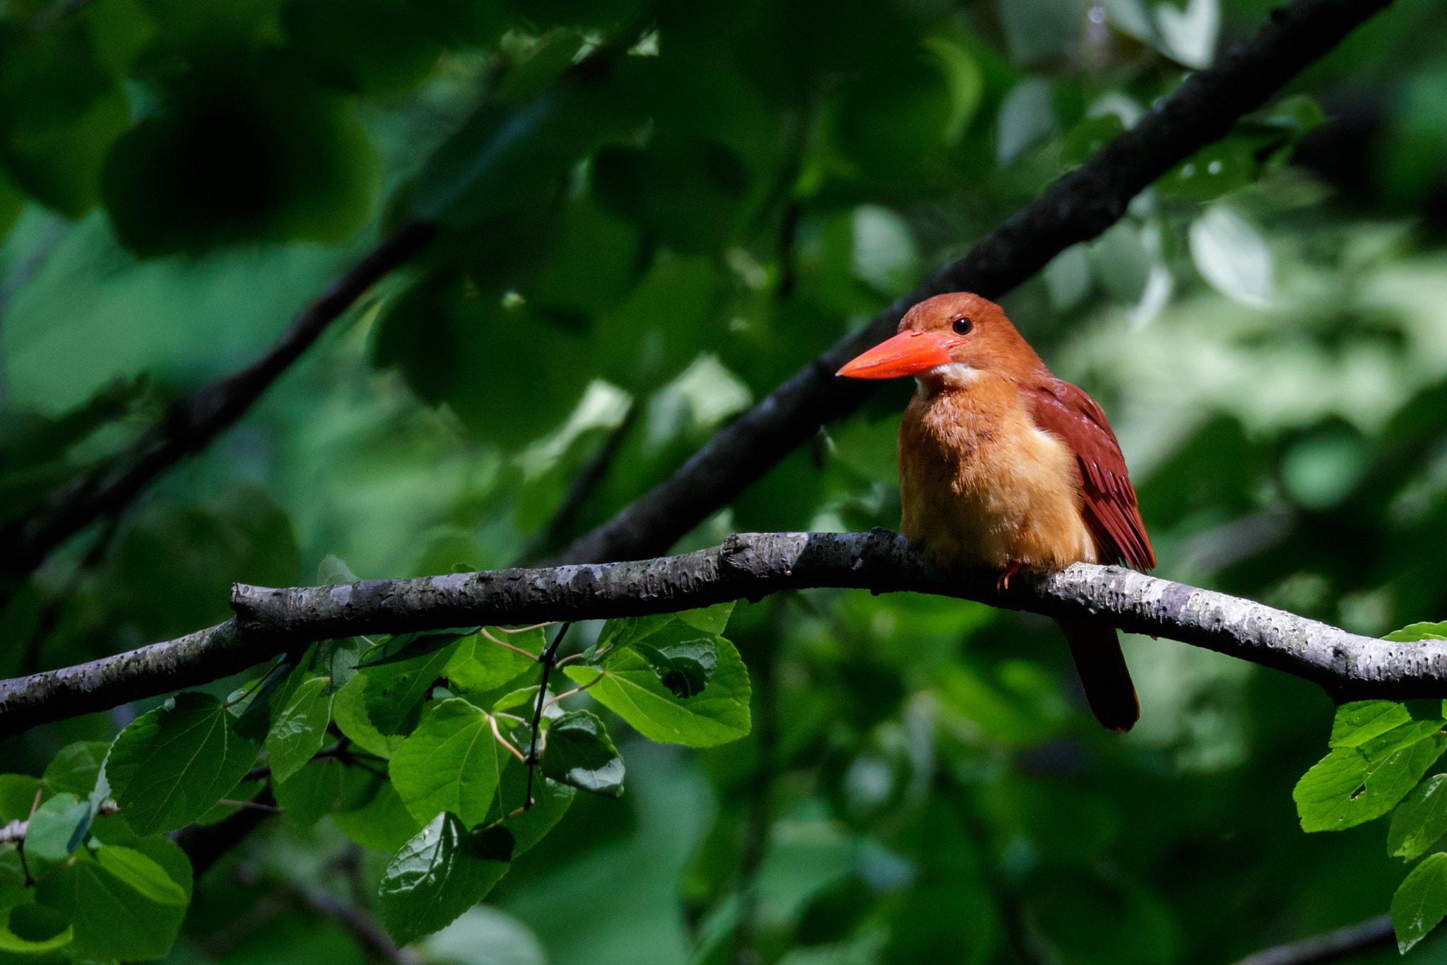
M 493 829 L 493 832 L 505 828 Z M 456 815 L 438 815 L 408 841 L 382 872 L 382 920 L 407 945 L 446 927 L 482 901 L 512 856 L 511 833 L 469 832 Z

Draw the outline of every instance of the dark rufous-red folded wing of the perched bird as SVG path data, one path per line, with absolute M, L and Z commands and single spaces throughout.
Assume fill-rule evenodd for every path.
M 1100 405 L 1069 382 L 1053 378 L 1022 386 L 1022 394 L 1036 427 L 1059 435 L 1075 453 L 1085 525 L 1100 553 L 1108 557 L 1101 563 L 1124 561 L 1137 570 L 1152 569 L 1156 554 L 1136 508 L 1126 457 Z

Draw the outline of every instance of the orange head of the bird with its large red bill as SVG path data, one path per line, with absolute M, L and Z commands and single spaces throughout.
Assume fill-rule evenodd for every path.
M 839 369 L 852 379 L 912 375 L 926 386 L 964 386 L 990 372 L 1010 379 L 1043 369 L 1000 305 L 971 292 L 935 295 L 900 321 L 899 334 Z

